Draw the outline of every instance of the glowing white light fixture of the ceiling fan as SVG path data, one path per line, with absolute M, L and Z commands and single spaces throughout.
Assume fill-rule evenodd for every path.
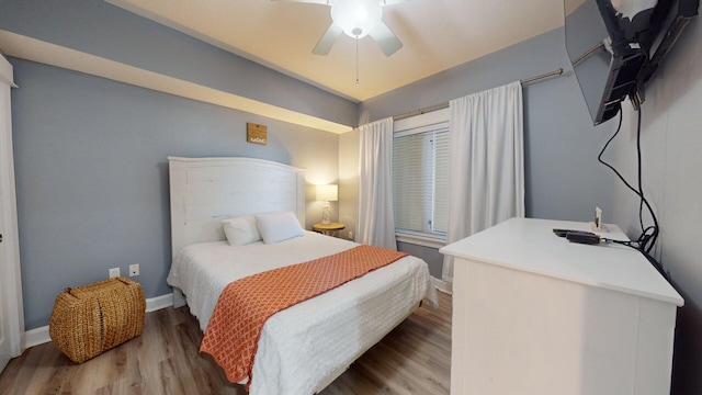
M 343 33 L 360 40 L 381 23 L 383 9 L 377 0 L 337 0 L 331 4 L 331 20 Z

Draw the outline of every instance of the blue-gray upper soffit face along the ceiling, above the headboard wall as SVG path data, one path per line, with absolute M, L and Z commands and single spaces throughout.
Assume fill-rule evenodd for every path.
M 0 1 L 0 30 L 354 125 L 356 104 L 102 0 Z

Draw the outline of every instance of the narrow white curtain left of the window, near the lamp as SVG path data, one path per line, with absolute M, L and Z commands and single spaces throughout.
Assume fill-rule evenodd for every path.
M 359 126 L 358 240 L 396 250 L 393 215 L 393 119 Z

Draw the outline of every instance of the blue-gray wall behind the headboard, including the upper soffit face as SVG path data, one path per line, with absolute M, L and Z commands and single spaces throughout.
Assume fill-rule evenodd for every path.
M 344 124 L 356 104 L 100 0 L 0 2 L 0 30 Z M 339 136 L 10 58 L 25 329 L 48 324 L 66 286 L 137 279 L 170 292 L 168 155 L 249 156 L 338 179 Z M 246 123 L 268 146 L 245 142 Z M 333 208 L 337 210 L 337 205 Z M 308 228 L 321 210 L 308 199 Z

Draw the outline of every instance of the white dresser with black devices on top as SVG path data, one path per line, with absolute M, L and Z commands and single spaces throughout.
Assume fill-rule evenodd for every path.
M 455 257 L 451 394 L 668 394 L 682 297 L 638 251 L 553 228 L 589 230 L 512 218 L 440 250 Z

